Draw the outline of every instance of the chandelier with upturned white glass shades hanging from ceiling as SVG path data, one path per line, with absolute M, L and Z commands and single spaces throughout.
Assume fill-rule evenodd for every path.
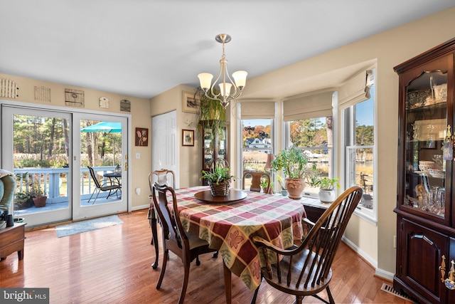
M 211 100 L 218 100 L 223 108 L 229 105 L 230 100 L 238 98 L 242 94 L 245 83 L 247 82 L 248 73 L 245 70 L 237 70 L 232 73 L 232 78 L 228 73 L 228 60 L 225 56 L 225 43 L 230 41 L 230 36 L 227 33 L 220 33 L 215 37 L 215 40 L 219 43 L 223 43 L 223 56 L 220 59 L 220 73 L 218 78 L 212 83 L 213 75 L 210 73 L 200 73 L 198 78 L 200 81 L 200 88 L 203 89 L 205 97 Z M 220 83 L 218 83 L 220 81 Z M 216 93 L 214 89 L 218 83 L 220 87 L 219 93 Z

